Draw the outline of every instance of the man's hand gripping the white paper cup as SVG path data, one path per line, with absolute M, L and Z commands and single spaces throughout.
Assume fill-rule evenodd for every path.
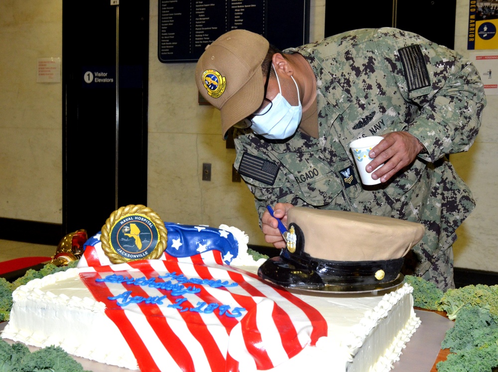
M 366 169 L 370 173 L 385 163 L 373 172 L 372 178 L 374 180 L 380 178 L 380 182 L 386 182 L 400 169 L 411 164 L 424 147 L 413 134 L 408 132 L 390 132 L 382 137 L 384 139 L 370 150 L 369 156 L 373 160 Z

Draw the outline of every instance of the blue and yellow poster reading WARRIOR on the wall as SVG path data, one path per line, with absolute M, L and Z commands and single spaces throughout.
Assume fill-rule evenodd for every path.
M 467 49 L 498 48 L 498 1 L 470 0 Z

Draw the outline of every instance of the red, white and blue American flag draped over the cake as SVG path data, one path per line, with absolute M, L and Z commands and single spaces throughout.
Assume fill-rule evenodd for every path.
M 121 213 L 106 226 L 127 238 L 126 226 L 141 221 L 136 215 Z M 315 308 L 229 266 L 239 254 L 234 228 L 163 224 L 167 241 L 159 259 L 115 263 L 97 234 L 78 264 L 80 279 L 106 305 L 141 371 L 167 371 L 172 363 L 192 372 L 239 371 L 241 364 L 267 370 L 327 335 Z

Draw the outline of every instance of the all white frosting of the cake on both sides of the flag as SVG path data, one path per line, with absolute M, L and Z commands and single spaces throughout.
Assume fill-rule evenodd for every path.
M 246 262 L 254 266 L 253 260 Z M 105 305 L 95 301 L 80 280 L 80 270 L 68 269 L 17 288 L 1 337 L 37 347 L 56 345 L 79 357 L 137 369 L 121 332 L 106 316 Z M 265 287 L 261 284 L 261 292 Z M 294 293 L 322 313 L 328 337 L 271 371 L 320 371 L 323 366 L 331 371 L 389 371 L 420 324 L 411 292 L 412 287 L 404 284 L 383 295 L 361 297 Z M 249 371 L 245 368 L 241 365 L 240 371 Z M 171 371 L 179 369 L 171 366 Z

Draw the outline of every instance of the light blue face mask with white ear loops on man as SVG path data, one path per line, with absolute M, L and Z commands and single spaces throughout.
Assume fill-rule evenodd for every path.
M 273 64 L 271 64 L 271 67 L 273 67 Z M 273 70 L 275 70 L 274 67 Z M 276 71 L 275 75 L 278 82 L 278 94 L 271 100 L 271 108 L 266 114 L 254 116 L 251 119 L 251 129 L 254 133 L 260 134 L 268 139 L 284 139 L 296 132 L 297 127 L 301 122 L 303 109 L 301 107 L 301 100 L 299 99 L 299 88 L 297 87 L 294 78 L 291 76 L 297 89 L 298 106 L 291 106 L 287 100 L 283 98 L 280 89 L 280 81 L 278 80 Z

